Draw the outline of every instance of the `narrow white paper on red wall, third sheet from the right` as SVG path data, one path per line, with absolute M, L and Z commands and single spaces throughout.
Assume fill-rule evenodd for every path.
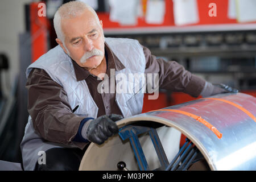
M 148 0 L 146 10 L 146 22 L 151 24 L 162 24 L 164 14 L 166 13 L 166 4 L 163 0 Z

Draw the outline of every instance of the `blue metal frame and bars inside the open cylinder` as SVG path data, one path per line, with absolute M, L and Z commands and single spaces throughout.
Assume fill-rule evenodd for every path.
M 129 138 L 139 165 L 139 169 L 141 169 L 141 171 L 149 170 L 147 160 L 144 156 L 144 152 L 138 138 L 138 135 L 143 133 L 150 134 L 150 138 L 152 140 L 152 143 L 154 144 L 156 154 L 158 155 L 158 159 L 161 164 L 159 169 L 166 171 L 187 170 L 187 168 L 193 162 L 195 162 L 197 154 L 200 153 L 197 147 L 188 138 L 186 138 L 186 142 L 183 144 L 179 152 L 176 154 L 175 158 L 172 159 L 172 162 L 169 164 L 166 153 L 164 152 L 162 143 L 160 142 L 158 133 L 155 129 L 144 126 L 124 126 L 119 129 L 119 136 L 122 140 L 126 140 Z

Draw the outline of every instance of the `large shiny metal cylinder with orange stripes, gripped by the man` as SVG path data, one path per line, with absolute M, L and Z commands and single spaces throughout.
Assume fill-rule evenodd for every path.
M 118 121 L 117 125 L 123 127 L 141 121 L 162 123 L 184 134 L 191 140 L 203 154 L 210 169 L 256 170 L 255 115 L 255 97 L 243 93 L 227 93 L 134 115 Z M 159 131 L 162 133 L 174 132 L 174 130 Z M 168 150 L 172 146 L 174 148 L 177 147 L 174 136 L 176 136 L 177 140 L 180 139 L 180 135 L 177 132 L 170 138 L 160 138 L 164 150 Z M 163 143 L 166 138 L 168 138 L 167 142 Z M 165 146 L 167 143 L 169 144 L 168 147 Z M 123 150 L 122 147 L 124 147 Z M 117 161 L 121 161 L 123 159 L 122 153 L 124 152 L 125 154 L 123 155 L 127 156 L 127 158 L 134 158 L 133 154 L 130 154 L 132 150 L 127 149 L 129 147 L 129 144 L 121 141 L 118 135 L 114 135 L 102 146 L 92 143 L 82 158 L 80 170 L 115 170 L 115 168 L 111 167 L 116 166 L 116 164 L 111 164 L 112 162 L 115 163 L 114 158 L 118 158 Z M 118 153 L 117 151 L 120 152 Z M 117 152 L 116 154 L 118 155 L 111 155 L 113 152 Z M 177 152 L 177 150 L 171 151 L 171 153 L 174 152 Z M 94 155 L 101 155 L 102 161 L 97 164 L 98 167 L 90 168 L 89 166 L 95 162 Z

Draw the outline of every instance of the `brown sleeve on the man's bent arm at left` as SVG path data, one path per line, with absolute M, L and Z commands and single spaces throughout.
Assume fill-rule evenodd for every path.
M 84 148 L 87 143 L 75 142 L 84 119 L 72 113 L 65 90 L 53 81 L 43 69 L 32 69 L 27 78 L 28 113 L 34 129 L 50 142 L 75 144 Z

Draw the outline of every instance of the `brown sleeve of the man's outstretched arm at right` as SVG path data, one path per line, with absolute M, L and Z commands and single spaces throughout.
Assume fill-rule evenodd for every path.
M 184 92 L 193 97 L 200 96 L 206 83 L 205 80 L 185 70 L 176 61 L 156 59 L 156 56 L 152 55 L 146 47 L 143 47 L 143 51 L 146 58 L 145 73 L 159 74 L 159 88 Z

